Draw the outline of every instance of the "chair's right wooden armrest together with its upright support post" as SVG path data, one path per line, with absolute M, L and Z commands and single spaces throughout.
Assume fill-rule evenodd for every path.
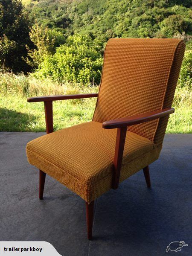
M 103 122 L 103 128 L 114 129 L 117 128 L 115 156 L 113 160 L 113 181 L 112 188 L 117 189 L 119 186 L 119 177 L 122 165 L 122 157 L 125 145 L 125 138 L 128 126 L 137 125 L 143 122 L 148 122 L 163 116 L 167 116 L 175 112 L 174 108 L 165 108 L 160 111 L 153 111 L 137 116 L 129 116 L 125 118 L 115 119 Z

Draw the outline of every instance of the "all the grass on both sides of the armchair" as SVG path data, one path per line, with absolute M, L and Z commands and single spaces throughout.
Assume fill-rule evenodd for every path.
M 27 103 L 27 96 L 94 93 L 98 87 L 53 84 L 23 74 L 0 73 L 0 131 L 45 131 L 43 102 Z M 54 129 L 76 125 L 92 119 L 96 98 L 53 102 Z M 191 133 L 191 91 L 189 85 L 175 92 L 167 133 Z

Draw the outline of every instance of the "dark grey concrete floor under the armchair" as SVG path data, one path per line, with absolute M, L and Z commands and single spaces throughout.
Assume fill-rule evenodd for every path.
M 166 135 L 160 159 L 95 204 L 93 241 L 87 241 L 84 201 L 50 177 L 38 200 L 38 170 L 25 146 L 43 133 L 0 133 L 0 241 L 48 241 L 64 256 L 192 255 L 192 134 Z

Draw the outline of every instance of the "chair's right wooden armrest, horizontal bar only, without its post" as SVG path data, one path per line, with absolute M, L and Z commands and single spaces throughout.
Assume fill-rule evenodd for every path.
M 163 116 L 170 115 L 175 112 L 174 108 L 164 108 L 162 110 L 148 112 L 137 116 L 128 116 L 124 118 L 114 119 L 103 122 L 103 128 L 114 129 L 128 127 L 130 125 L 137 125 L 143 122 L 148 122 Z

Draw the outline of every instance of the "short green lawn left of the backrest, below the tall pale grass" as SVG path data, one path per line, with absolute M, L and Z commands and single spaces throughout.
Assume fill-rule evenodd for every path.
M 93 98 L 54 102 L 54 129 L 90 121 L 95 104 Z M 0 131 L 45 131 L 43 103 L 27 103 L 22 96 L 0 96 Z

